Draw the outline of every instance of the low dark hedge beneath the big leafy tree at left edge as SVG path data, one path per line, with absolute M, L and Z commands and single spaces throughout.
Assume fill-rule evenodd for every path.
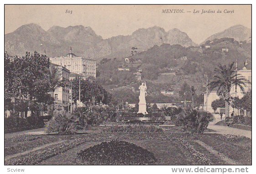
M 44 117 L 5 118 L 5 133 L 13 133 L 34 128 L 43 128 L 44 126 Z

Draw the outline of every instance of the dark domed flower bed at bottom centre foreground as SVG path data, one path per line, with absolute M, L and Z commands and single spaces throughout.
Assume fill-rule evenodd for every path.
M 77 154 L 78 164 L 145 165 L 157 161 L 152 152 L 125 141 L 102 142 Z

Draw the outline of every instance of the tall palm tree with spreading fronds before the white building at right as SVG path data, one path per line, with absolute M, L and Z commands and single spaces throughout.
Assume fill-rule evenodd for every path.
M 247 79 L 240 74 L 237 74 L 234 62 L 229 66 L 218 65 L 218 68 L 214 69 L 214 77 L 207 87 L 209 91 L 217 89 L 217 95 L 225 100 L 225 117 L 229 117 L 230 113 L 230 89 L 234 85 L 240 87 L 241 91 L 244 92 L 246 87 Z

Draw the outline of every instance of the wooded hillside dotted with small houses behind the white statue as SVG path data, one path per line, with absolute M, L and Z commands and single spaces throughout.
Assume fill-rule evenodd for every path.
M 182 85 L 187 82 L 189 86 L 195 86 L 196 93 L 200 94 L 206 85 L 206 77 L 211 79 L 214 68 L 219 63 L 223 65 L 237 60 L 238 69 L 241 69 L 247 58 L 247 68 L 251 68 L 251 43 L 221 38 L 206 41 L 205 44 L 196 47 L 162 44 L 128 58 L 141 62 L 127 63 L 125 58 L 104 59 L 99 62 L 96 80 L 117 93 L 120 87 L 123 90 L 124 86 L 127 90 L 131 87 L 137 89 L 139 82 L 133 74 L 141 69 L 142 81 L 150 84 L 149 99 L 156 101 L 156 98 L 160 97 L 163 102 L 171 102 L 177 99 L 177 96 L 166 98 L 160 93 L 162 90 L 175 91 L 178 95 Z M 128 67 L 130 71 L 118 71 L 118 67 Z M 172 72 L 173 69 L 178 70 L 175 76 L 162 75 L 162 72 Z M 126 98 L 131 98 L 133 93 L 128 93 L 129 97 Z

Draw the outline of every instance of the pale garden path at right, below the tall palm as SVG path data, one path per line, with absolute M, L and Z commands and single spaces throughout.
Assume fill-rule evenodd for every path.
M 245 136 L 247 138 L 251 138 L 251 131 L 248 131 L 248 130 L 242 130 L 238 128 L 230 128 L 228 126 L 219 126 L 219 125 L 212 125 L 212 124 L 209 124 L 207 128 L 216 131 L 216 132 L 209 132 L 209 133 L 240 135 L 240 136 Z

